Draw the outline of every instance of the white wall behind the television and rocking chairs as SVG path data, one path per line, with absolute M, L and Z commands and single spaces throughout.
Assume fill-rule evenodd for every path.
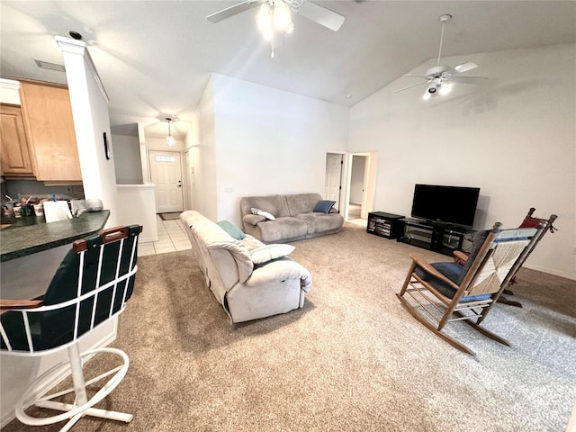
M 574 44 L 445 58 L 480 65 L 479 85 L 421 99 L 401 77 L 351 110 L 349 151 L 379 150 L 374 210 L 410 215 L 415 183 L 481 187 L 474 228 L 558 215 L 527 267 L 576 279 Z M 429 61 L 411 73 L 421 74 Z

